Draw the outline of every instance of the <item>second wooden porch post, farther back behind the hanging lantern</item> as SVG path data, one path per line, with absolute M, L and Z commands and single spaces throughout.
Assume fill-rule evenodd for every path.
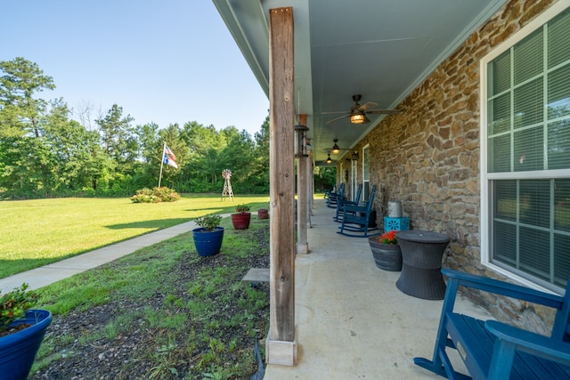
M 299 115 L 299 124 L 306 126 L 306 115 Z M 299 147 L 299 151 L 301 148 Z M 308 183 L 306 161 L 307 157 L 297 158 L 297 254 L 308 254 L 309 243 L 306 239 L 307 226 L 307 191 Z

